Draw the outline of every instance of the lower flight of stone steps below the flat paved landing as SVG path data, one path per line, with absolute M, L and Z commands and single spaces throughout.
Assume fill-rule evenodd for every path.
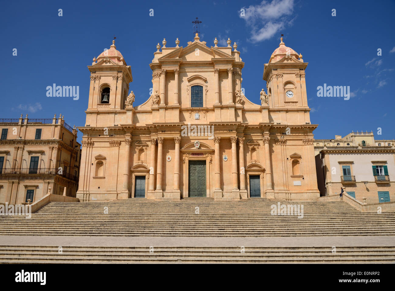
M 0 246 L 0 263 L 395 263 L 395 247 Z

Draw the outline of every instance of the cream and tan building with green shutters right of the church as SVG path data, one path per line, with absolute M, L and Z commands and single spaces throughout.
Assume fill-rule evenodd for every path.
M 394 140 L 375 140 L 373 132 L 351 132 L 331 140 L 315 140 L 321 196 L 348 195 L 366 203 L 395 200 Z

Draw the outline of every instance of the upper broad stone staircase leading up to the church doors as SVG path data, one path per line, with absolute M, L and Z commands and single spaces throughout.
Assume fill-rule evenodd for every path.
M 50 202 L 31 219 L 0 216 L 0 235 L 61 236 L 370 236 L 395 235 L 395 212 L 360 212 L 350 204 L 303 205 L 303 218 L 271 215 L 279 200 L 214 201 L 144 198 L 109 202 Z M 108 209 L 108 214 L 105 210 Z

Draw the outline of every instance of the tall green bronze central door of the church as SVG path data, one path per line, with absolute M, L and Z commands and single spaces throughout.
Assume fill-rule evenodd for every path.
M 206 161 L 189 161 L 188 197 L 206 197 Z

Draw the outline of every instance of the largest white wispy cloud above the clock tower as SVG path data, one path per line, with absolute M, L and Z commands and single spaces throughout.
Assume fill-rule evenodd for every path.
M 279 30 L 290 23 L 287 16 L 293 13 L 293 0 L 262 1 L 257 5 L 250 5 L 245 9 L 245 15 L 239 17 L 246 21 L 251 28 L 252 42 L 261 42 L 273 37 Z

